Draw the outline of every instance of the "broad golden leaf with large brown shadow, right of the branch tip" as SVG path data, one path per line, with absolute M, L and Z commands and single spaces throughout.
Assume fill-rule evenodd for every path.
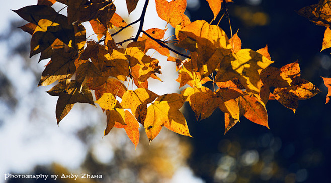
M 197 64 L 201 77 L 215 71 L 223 57 L 231 52 L 232 46 L 225 32 L 216 25 L 197 20 L 176 30 L 177 46 L 190 50 L 192 61 Z

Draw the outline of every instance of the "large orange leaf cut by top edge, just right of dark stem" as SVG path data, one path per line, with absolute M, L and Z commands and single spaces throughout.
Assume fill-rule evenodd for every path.
M 186 0 L 155 0 L 158 16 L 176 28 L 177 25 L 186 26 L 191 23 L 190 19 L 184 14 Z

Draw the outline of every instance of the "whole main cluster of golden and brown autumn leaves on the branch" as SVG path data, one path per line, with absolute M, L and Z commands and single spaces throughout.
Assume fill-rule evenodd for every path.
M 52 8 L 55 2 L 67 8 L 67 16 Z M 197 120 L 208 118 L 217 108 L 223 111 L 226 133 L 242 116 L 269 128 L 268 100 L 276 99 L 295 112 L 298 100 L 320 92 L 300 77 L 298 62 L 280 69 L 272 67 L 274 61 L 267 46 L 257 51 L 242 49 L 238 32 L 229 39 L 217 25 L 204 20 L 191 22 L 184 14 L 186 0 L 155 0 L 158 16 L 175 28 L 176 39 L 172 42 L 186 52 L 172 49 L 169 41 L 163 41 L 167 30 L 143 29 L 148 2 L 145 0 L 141 17 L 129 24 L 116 13 L 111 0 L 39 0 L 37 5 L 15 10 L 29 22 L 20 28 L 32 35 L 30 56 L 41 53 L 39 61 L 50 58 L 39 85 L 58 83 L 48 91 L 59 96 L 58 123 L 75 103 L 97 103 L 107 115 L 104 134 L 114 127 L 124 128 L 137 145 L 140 124 L 149 140 L 163 126 L 191 136 L 179 110 L 185 102 Z M 232 1 L 208 0 L 214 19 L 221 10 L 229 16 L 227 2 Z M 128 14 L 137 3 L 138 0 L 126 0 Z M 84 22 L 91 24 L 97 40 L 88 41 L 81 24 Z M 136 23 L 139 29 L 135 36 L 115 42 L 114 35 Z M 110 34 L 111 29 L 117 31 Z M 125 42 L 130 43 L 124 48 Z M 158 95 L 150 91 L 148 79 L 161 81 L 161 66 L 146 54 L 149 49 L 174 62 L 179 88 L 186 84 L 189 87 L 180 94 Z M 127 81 L 134 85 L 132 90 L 124 85 Z M 213 87 L 206 87 L 207 82 L 212 82 Z

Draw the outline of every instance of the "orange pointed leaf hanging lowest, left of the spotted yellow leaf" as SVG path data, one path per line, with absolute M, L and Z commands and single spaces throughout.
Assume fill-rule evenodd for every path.
M 137 145 L 139 143 L 139 138 L 140 138 L 139 123 L 136 120 L 136 118 L 129 111 L 125 110 L 124 113 L 125 113 L 125 124 L 126 125 L 116 122 L 114 127 L 115 128 L 124 128 L 126 134 L 130 138 L 131 142 L 137 148 Z

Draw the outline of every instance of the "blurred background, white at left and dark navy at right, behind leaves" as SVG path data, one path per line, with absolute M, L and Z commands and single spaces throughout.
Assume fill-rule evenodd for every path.
M 331 50 L 320 52 L 325 27 L 316 26 L 295 12 L 317 4 L 317 0 L 236 0 L 227 5 L 232 30 L 239 29 L 242 48 L 258 50 L 268 44 L 273 66 L 278 68 L 299 60 L 301 77 L 314 83 L 322 93 L 300 101 L 296 114 L 277 101 L 269 101 L 270 130 L 243 117 L 225 135 L 224 114 L 220 110 L 197 122 L 186 104 L 182 111 L 194 138 L 163 129 L 149 145 L 141 128 L 137 149 L 123 129 L 113 129 L 103 137 L 105 114 L 91 105 L 75 104 L 57 126 L 57 97 L 45 93 L 52 86 L 37 87 L 48 61 L 37 64 L 39 56 L 29 58 L 31 36 L 17 28 L 25 22 L 10 11 L 37 1 L 14 2 L 3 2 L 0 7 L 0 182 L 43 181 L 5 181 L 7 173 L 102 175 L 102 179 L 75 182 L 331 182 L 331 104 L 324 104 L 327 88 L 320 78 L 331 77 Z M 115 1 L 117 10 L 126 9 L 123 2 Z M 143 3 L 139 1 L 130 17 L 125 11 L 117 13 L 127 23 L 132 22 L 140 16 Z M 54 5 L 57 10 L 62 7 Z M 145 30 L 166 26 L 156 19 L 154 7 L 155 2 L 150 1 Z M 187 0 L 186 14 L 192 22 L 210 22 L 213 18 L 205 0 Z M 226 17 L 220 27 L 230 35 Z M 168 29 L 169 36 L 173 31 Z M 115 39 L 121 39 L 120 36 Z M 161 62 L 161 79 L 170 84 L 160 91 L 163 84 L 151 81 L 150 89 L 157 94 L 179 92 L 179 84 L 174 81 L 177 74 L 172 72 L 176 66 L 157 53 L 153 57 Z

